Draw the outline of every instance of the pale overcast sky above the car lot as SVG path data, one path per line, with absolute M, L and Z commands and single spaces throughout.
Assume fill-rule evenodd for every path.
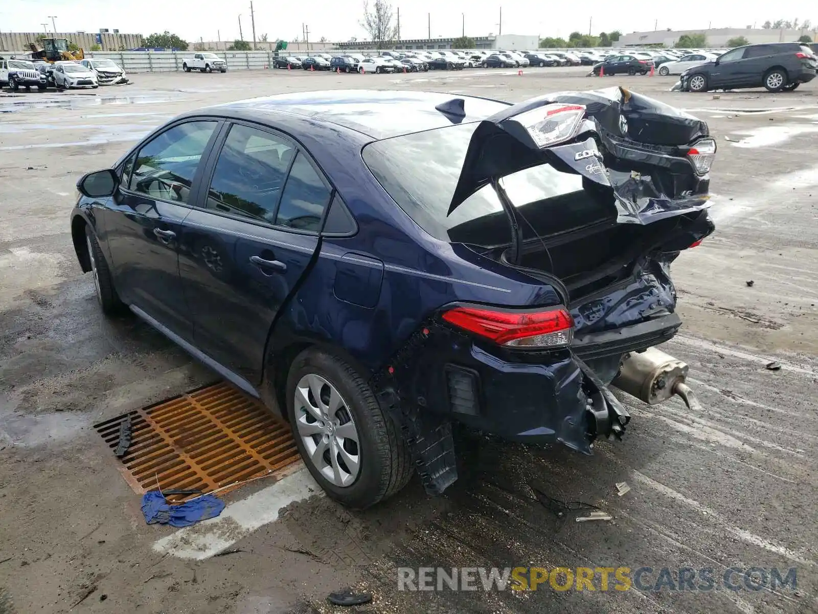
M 374 0 L 371 0 L 374 2 Z M 247 5 L 246 7 L 244 5 Z M 539 34 L 568 37 L 573 30 L 591 32 L 619 29 L 623 33 L 654 29 L 743 28 L 765 20 L 811 20 L 818 25 L 818 2 L 803 0 L 686 0 L 685 2 L 638 2 L 636 0 L 584 0 L 584 2 L 530 2 L 526 0 L 411 0 L 391 2 L 400 7 L 401 38 L 426 38 L 427 14 L 431 34 L 458 36 L 465 14 L 465 33 L 471 36 L 497 34 L 502 6 L 504 34 Z M 768 7 L 766 8 L 765 7 Z M 573 10 L 572 7 L 576 7 Z M 306 20 L 309 38 L 330 41 L 366 38 L 359 21 L 362 0 L 254 0 L 257 37 L 270 40 L 301 37 Z M 122 33 L 151 34 L 169 29 L 188 41 L 233 40 L 239 37 L 239 13 L 245 40 L 252 38 L 249 0 L 0 0 L 0 30 L 36 32 L 43 23 L 52 29 L 49 16 L 56 16 L 61 32 L 118 28 Z

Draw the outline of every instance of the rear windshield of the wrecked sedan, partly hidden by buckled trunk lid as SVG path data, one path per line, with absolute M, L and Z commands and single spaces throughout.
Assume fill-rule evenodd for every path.
M 477 126 L 460 124 L 376 141 L 364 147 L 363 160 L 389 196 L 433 237 L 447 242 L 497 245 L 507 237 L 487 242 L 467 232 L 470 228 L 495 226 L 488 218 L 505 215 L 491 186 L 475 192 L 447 215 Z M 543 209 L 539 205 L 543 201 L 549 201 L 545 204 L 548 208 L 556 205 L 551 201 L 566 201 L 566 208 L 582 208 L 582 201 L 590 197 L 584 193 L 582 177 L 547 164 L 510 174 L 502 183 L 518 210 Z M 534 208 L 524 206 L 533 203 L 537 203 Z M 501 219 L 496 226 L 504 228 L 503 224 Z

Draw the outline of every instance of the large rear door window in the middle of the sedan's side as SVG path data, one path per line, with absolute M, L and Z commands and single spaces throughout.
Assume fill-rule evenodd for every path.
M 234 124 L 208 191 L 207 208 L 274 223 L 295 148 L 285 139 Z

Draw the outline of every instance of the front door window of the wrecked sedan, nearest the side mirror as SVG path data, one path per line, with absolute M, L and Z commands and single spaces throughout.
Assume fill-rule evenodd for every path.
M 189 121 L 165 130 L 137 154 L 130 189 L 164 201 L 187 203 L 193 178 L 216 121 Z

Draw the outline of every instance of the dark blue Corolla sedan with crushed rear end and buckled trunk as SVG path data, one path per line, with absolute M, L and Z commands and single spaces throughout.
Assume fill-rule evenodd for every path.
M 453 422 L 585 454 L 622 436 L 606 386 L 681 324 L 669 266 L 712 232 L 714 153 L 618 88 L 295 93 L 155 130 L 79 180 L 71 231 L 106 314 L 282 413 L 363 508 L 416 468 L 450 485 Z

